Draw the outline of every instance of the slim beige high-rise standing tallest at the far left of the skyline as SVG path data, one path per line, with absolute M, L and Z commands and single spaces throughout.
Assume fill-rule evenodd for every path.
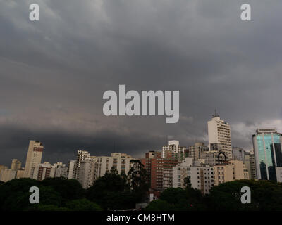
M 25 177 L 32 178 L 35 167 L 41 163 L 43 148 L 40 141 L 30 141 L 25 161 Z

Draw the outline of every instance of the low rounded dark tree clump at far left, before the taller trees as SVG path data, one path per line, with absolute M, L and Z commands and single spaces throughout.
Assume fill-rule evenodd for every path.
M 39 188 L 39 204 L 30 204 L 30 187 Z M 6 211 L 86 211 L 101 210 L 85 199 L 85 191 L 76 180 L 49 178 L 13 179 L 0 185 L 0 210 Z

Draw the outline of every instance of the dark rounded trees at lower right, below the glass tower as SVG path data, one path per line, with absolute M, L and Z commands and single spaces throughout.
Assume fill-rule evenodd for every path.
M 241 188 L 250 187 L 251 203 L 241 203 Z M 168 188 L 146 210 L 281 211 L 282 184 L 274 181 L 231 181 L 212 188 L 209 195 L 194 188 Z

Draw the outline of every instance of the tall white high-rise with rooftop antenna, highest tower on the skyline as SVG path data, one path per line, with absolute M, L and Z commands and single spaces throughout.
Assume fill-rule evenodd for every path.
M 221 120 L 214 113 L 212 120 L 207 122 L 209 134 L 209 150 L 222 151 L 228 160 L 232 159 L 231 129 L 230 125 Z

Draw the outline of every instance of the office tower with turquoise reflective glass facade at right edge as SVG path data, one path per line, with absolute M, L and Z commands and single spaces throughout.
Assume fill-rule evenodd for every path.
M 252 136 L 254 145 L 257 179 L 278 181 L 282 167 L 282 134 L 276 129 L 257 129 Z

